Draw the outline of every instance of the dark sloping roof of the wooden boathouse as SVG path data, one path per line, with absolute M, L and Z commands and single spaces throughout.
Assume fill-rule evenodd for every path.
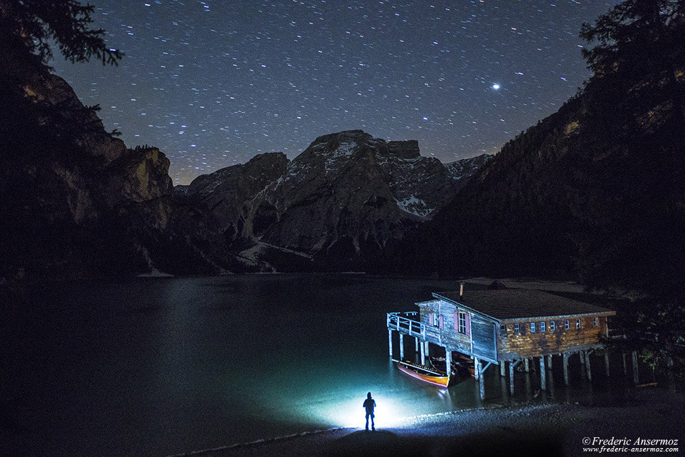
M 470 308 L 498 321 L 539 319 L 543 317 L 613 315 L 614 311 L 543 291 L 506 289 L 433 293 L 437 299 Z

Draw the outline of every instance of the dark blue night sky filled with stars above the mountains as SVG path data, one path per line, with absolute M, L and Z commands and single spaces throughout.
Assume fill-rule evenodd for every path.
M 55 73 L 189 184 L 348 129 L 419 140 L 443 162 L 495 153 L 588 79 L 580 25 L 616 0 L 90 3 L 125 57 L 103 67 L 55 53 Z

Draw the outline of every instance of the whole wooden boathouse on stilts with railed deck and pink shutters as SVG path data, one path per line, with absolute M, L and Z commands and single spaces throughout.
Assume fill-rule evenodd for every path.
M 485 395 L 483 373 L 499 365 L 500 374 L 510 378 L 514 393 L 514 368 L 530 361 L 540 362 L 540 388 L 546 389 L 546 370 L 553 356 L 561 356 L 564 382 L 569 384 L 569 357 L 578 354 L 591 379 L 589 354 L 602 347 L 608 336 L 609 316 L 616 312 L 582 301 L 543 291 L 523 289 L 440 292 L 434 299 L 416 303 L 419 311 L 387 314 L 390 358 L 393 358 L 393 332 L 399 333 L 400 354 L 404 357 L 403 336 L 416 338 L 421 365 L 426 365 L 429 343 L 445 349 L 447 367 L 452 353 L 473 358 L 480 396 Z M 605 353 L 608 372 L 608 356 Z

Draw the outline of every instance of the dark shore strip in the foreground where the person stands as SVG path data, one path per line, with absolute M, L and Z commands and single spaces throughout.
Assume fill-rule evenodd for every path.
M 362 416 L 363 419 L 363 416 Z M 595 403 L 541 403 L 491 406 L 441 412 L 403 419 L 375 432 L 359 428 L 332 428 L 301 432 L 177 456 L 347 456 L 347 455 L 544 455 L 599 454 L 584 443 L 590 439 L 675 440 L 685 454 L 685 396 L 680 391 L 634 391 L 621 404 L 615 399 Z M 606 446 L 605 446 L 606 447 Z M 610 448 L 611 446 L 609 446 Z M 640 454 L 653 455 L 649 446 Z M 660 446 L 657 446 L 660 447 Z M 631 447 L 630 449 L 636 449 Z M 634 455 L 631 452 L 611 455 Z

